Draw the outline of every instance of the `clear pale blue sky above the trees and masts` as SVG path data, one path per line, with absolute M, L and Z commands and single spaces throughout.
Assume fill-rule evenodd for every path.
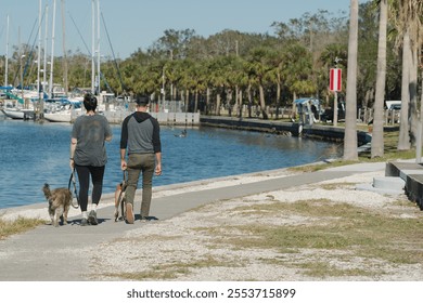
M 0 55 L 21 43 L 37 45 L 40 0 L 0 0 Z M 97 0 L 95 0 L 97 1 Z M 359 0 L 359 3 L 368 0 Z M 56 0 L 54 51 L 63 54 L 62 2 L 65 15 L 65 49 L 91 52 L 92 0 Z M 194 29 L 207 38 L 225 29 L 249 34 L 274 35 L 273 22 L 289 22 L 305 13 L 326 10 L 349 15 L 350 0 L 100 0 L 100 53 L 102 56 L 127 58 L 138 49 L 146 51 L 166 29 Z M 48 5 L 48 35 L 41 25 L 41 47 L 51 54 L 53 0 Z M 9 15 L 9 48 L 7 16 Z M 104 21 L 104 22 L 103 22 Z M 104 26 L 105 25 L 105 26 Z M 34 32 L 31 35 L 31 31 Z M 46 42 L 47 41 L 47 42 Z

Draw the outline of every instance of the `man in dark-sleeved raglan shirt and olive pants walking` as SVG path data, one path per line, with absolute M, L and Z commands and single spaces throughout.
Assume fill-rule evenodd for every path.
M 133 224 L 133 199 L 142 172 L 141 220 L 146 220 L 152 198 L 153 174 L 162 174 L 161 130 L 156 119 L 148 111 L 150 98 L 136 96 L 137 110 L 125 118 L 120 136 L 120 168 L 128 171 L 126 222 Z M 126 152 L 128 149 L 128 161 Z

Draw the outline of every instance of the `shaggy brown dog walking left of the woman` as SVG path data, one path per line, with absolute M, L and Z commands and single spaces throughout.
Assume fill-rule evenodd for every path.
M 59 218 L 61 218 L 63 225 L 67 224 L 67 213 L 70 208 L 72 193 L 69 189 L 61 187 L 50 190 L 49 184 L 42 187 L 46 199 L 49 201 L 49 214 L 51 223 L 57 227 Z

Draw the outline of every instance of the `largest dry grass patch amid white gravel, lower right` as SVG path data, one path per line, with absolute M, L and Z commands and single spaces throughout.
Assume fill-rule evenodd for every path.
M 272 249 L 285 256 L 304 250 L 316 250 L 313 261 L 298 261 L 289 256 L 272 261 L 305 269 L 305 274 L 313 277 L 384 274 L 383 271 L 376 273 L 374 268 L 328 265 L 328 262 L 322 261 L 328 258 L 328 251 L 338 252 L 339 255 L 334 255 L 331 260 L 338 260 L 341 263 L 345 263 L 343 259 L 354 258 L 377 260 L 394 267 L 423 263 L 423 238 L 420 233 L 423 221 L 420 218 L 400 218 L 395 211 L 364 209 L 326 199 L 240 207 L 233 211 L 241 215 L 273 212 L 309 218 L 307 223 L 297 225 L 264 223 L 208 230 L 202 228 L 202 232 L 211 234 L 220 243 L 229 245 L 235 250 Z

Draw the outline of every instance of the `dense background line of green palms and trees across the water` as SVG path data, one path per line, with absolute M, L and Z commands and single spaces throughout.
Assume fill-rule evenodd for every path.
M 360 8 L 360 66 L 358 98 L 360 106 L 374 100 L 377 22 L 369 2 Z M 136 50 L 130 57 L 105 57 L 101 90 L 154 94 L 157 98 L 184 100 L 191 110 L 219 114 L 221 105 L 235 111 L 242 104 L 291 106 L 300 96 L 322 98 L 330 106 L 329 69 L 347 73 L 348 17 L 346 12 L 306 13 L 287 23 L 274 22 L 274 35 L 246 34 L 227 29 L 208 38 L 194 29 L 168 29 L 146 51 Z M 20 83 L 20 60 L 25 55 L 24 83 L 37 79 L 34 63 L 37 47 L 14 47 L 9 61 L 9 83 Z M 398 55 L 390 48 L 389 67 L 395 79 L 387 95 L 398 98 L 400 79 Z M 54 82 L 63 82 L 63 60 L 54 60 Z M 66 54 L 69 90 L 91 87 L 91 56 L 81 51 Z M 2 61 L 4 62 L 4 61 Z M 26 64 L 30 62 L 30 64 Z M 3 66 L 2 66 L 3 68 Z M 1 73 L 0 77 L 4 77 Z M 1 79 L 1 78 L 0 78 Z M 2 80 L 2 82 L 4 82 Z M 342 96 L 341 96 L 342 97 Z M 264 118 L 266 113 L 262 113 Z

